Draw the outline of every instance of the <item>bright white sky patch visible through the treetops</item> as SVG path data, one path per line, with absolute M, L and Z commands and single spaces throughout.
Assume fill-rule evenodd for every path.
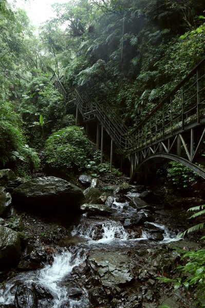
M 66 3 L 68 0 L 8 0 L 12 6 L 23 8 L 26 10 L 28 17 L 35 26 L 54 16 L 51 5 L 53 3 Z

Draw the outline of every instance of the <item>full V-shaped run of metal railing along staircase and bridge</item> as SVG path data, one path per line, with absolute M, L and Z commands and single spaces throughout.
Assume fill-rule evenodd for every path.
M 64 77 L 53 74 L 52 80 L 70 107 L 76 105 L 85 121 L 96 117 L 118 147 L 130 154 L 205 123 L 205 58 L 129 135 L 117 116 L 109 115 L 108 107 L 68 85 L 66 90 Z

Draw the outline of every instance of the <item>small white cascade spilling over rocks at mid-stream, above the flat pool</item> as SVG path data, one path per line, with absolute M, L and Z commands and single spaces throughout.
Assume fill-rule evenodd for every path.
M 72 236 L 80 236 L 95 242 L 109 242 L 114 239 L 126 240 L 128 233 L 120 222 L 105 221 L 100 224 L 75 226 L 71 232 Z

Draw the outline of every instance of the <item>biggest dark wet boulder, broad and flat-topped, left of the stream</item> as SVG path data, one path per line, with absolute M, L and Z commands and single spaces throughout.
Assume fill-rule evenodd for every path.
M 12 204 L 29 211 L 74 214 L 84 202 L 83 190 L 55 177 L 30 180 L 14 189 Z

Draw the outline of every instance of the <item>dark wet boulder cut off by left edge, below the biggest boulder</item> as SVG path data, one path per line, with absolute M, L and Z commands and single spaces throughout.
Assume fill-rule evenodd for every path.
M 17 261 L 22 254 L 20 237 L 17 232 L 0 225 L 0 268 Z

